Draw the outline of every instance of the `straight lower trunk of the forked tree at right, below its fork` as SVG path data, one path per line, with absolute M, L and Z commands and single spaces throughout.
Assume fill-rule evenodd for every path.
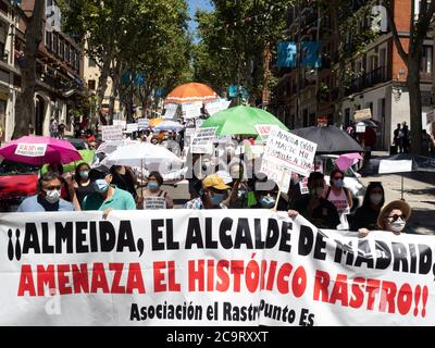
M 422 103 L 420 88 L 419 60 L 410 57 L 408 60 L 407 87 L 409 90 L 411 152 L 422 153 Z

